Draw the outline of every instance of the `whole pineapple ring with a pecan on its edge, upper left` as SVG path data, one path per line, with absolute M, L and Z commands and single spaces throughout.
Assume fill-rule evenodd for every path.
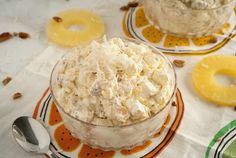
M 49 20 L 47 35 L 50 40 L 65 47 L 86 44 L 100 38 L 105 32 L 102 18 L 86 10 L 67 10 L 56 17 L 62 20 L 60 22 L 53 18 Z M 72 26 L 81 26 L 82 29 L 71 31 L 69 28 Z

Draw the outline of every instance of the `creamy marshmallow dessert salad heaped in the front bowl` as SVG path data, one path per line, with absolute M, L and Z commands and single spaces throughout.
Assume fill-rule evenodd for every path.
M 58 64 L 55 97 L 66 113 L 95 125 L 128 125 L 159 112 L 174 90 L 170 66 L 143 44 L 92 42 Z

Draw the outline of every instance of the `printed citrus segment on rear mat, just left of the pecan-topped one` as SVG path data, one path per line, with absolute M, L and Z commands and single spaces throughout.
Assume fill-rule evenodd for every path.
M 181 38 L 172 35 L 167 35 L 164 42 L 164 46 L 167 48 L 175 46 L 189 46 L 189 40 L 188 38 Z

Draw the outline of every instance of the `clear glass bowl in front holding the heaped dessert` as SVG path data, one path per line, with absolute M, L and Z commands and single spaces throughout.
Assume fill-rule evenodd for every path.
M 140 42 L 134 40 L 125 40 L 129 42 L 135 42 L 140 44 Z M 142 42 L 142 44 L 145 44 Z M 145 44 L 148 45 L 148 44 Z M 148 45 L 149 46 L 149 45 Z M 69 113 L 65 112 L 63 107 L 58 102 L 58 99 L 55 95 L 55 86 L 56 86 L 56 76 L 58 73 L 58 67 L 63 61 L 65 56 L 62 57 L 61 60 L 57 62 L 54 66 L 54 69 L 51 74 L 50 79 L 50 89 L 52 93 L 52 97 L 58 110 L 63 118 L 63 122 L 66 128 L 72 133 L 72 135 L 76 138 L 79 138 L 83 143 L 88 144 L 95 148 L 102 148 L 104 150 L 119 150 L 119 149 L 130 149 L 134 146 L 143 144 L 146 140 L 151 138 L 158 130 L 162 127 L 165 122 L 169 110 L 171 107 L 171 103 L 175 96 L 176 92 L 176 73 L 171 64 L 171 62 L 165 57 L 159 50 L 156 48 L 149 46 L 154 53 L 160 54 L 165 61 L 168 63 L 170 68 L 170 75 L 172 78 L 172 91 L 171 97 L 167 101 L 167 103 L 154 115 L 150 118 L 136 122 L 128 125 L 120 125 L 120 126 L 102 126 L 102 125 L 94 125 L 88 122 L 84 122 L 79 120 Z

